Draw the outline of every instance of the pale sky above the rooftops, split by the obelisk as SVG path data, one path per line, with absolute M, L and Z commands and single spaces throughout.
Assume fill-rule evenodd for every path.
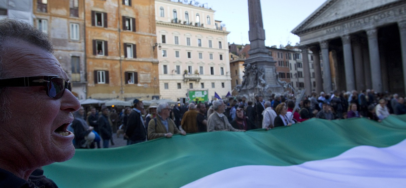
M 172 0 L 175 1 L 175 0 Z M 189 0 L 190 2 L 190 0 Z M 248 0 L 196 0 L 207 3 L 215 10 L 214 19 L 227 27 L 228 42 L 249 44 Z M 262 20 L 265 29 L 265 45 L 292 45 L 299 37 L 291 34 L 297 25 L 318 9 L 326 0 L 261 0 Z M 205 4 L 205 7 L 207 6 Z

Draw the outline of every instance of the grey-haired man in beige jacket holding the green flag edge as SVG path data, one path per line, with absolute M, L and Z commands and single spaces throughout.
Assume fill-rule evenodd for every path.
M 207 120 L 207 132 L 214 131 L 245 131 L 235 129 L 228 122 L 228 118 L 224 115 L 225 104 L 223 100 L 217 100 L 213 102 L 214 112 Z

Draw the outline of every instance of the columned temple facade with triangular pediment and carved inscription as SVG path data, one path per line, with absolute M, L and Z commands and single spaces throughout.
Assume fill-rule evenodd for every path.
M 328 0 L 292 33 L 303 57 L 312 50 L 323 59 L 322 66 L 314 59 L 316 78 L 323 78 L 316 90 L 406 93 L 406 0 Z M 303 71 L 311 88 L 309 59 Z

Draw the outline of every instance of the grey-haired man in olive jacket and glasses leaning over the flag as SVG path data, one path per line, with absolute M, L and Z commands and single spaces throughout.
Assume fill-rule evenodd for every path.
M 186 135 L 186 132 L 176 127 L 175 122 L 169 118 L 172 109 L 168 103 L 159 103 L 156 109 L 157 117 L 148 123 L 148 140 L 166 137 L 171 138 L 174 134 Z

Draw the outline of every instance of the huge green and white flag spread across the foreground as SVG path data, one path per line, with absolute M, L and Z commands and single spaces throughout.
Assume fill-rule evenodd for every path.
M 406 187 L 406 116 L 77 150 L 44 167 L 59 187 Z

